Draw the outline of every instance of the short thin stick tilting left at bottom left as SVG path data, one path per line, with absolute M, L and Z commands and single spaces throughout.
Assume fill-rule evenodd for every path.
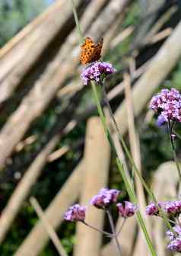
M 43 223 L 43 226 L 46 229 L 46 232 L 49 234 L 49 237 L 51 238 L 53 245 L 55 245 L 56 250 L 59 252 L 60 256 L 68 256 L 65 249 L 62 246 L 62 243 L 59 240 L 58 235 L 56 234 L 55 230 L 52 228 L 52 226 L 49 224 L 49 221 L 46 219 L 45 214 L 43 213 L 43 210 L 38 203 L 37 199 L 35 197 L 30 198 L 30 203 L 33 206 L 33 209 L 37 213 L 37 216 L 39 216 L 39 219 L 41 219 L 41 222 Z

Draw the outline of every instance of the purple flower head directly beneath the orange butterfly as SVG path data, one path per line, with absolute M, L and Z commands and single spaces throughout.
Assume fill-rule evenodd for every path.
M 84 85 L 88 85 L 89 82 L 100 82 L 101 75 L 110 75 L 116 72 L 113 65 L 107 62 L 93 62 L 90 66 L 87 66 L 81 73 L 81 79 Z

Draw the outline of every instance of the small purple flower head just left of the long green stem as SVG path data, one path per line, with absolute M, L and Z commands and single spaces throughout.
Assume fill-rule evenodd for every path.
M 118 206 L 119 214 L 123 218 L 132 217 L 137 210 L 137 206 L 129 201 L 125 201 L 124 203 L 117 203 L 116 206 Z

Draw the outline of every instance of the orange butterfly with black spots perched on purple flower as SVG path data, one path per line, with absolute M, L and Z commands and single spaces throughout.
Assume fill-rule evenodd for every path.
M 101 50 L 103 47 L 103 38 L 95 44 L 91 37 L 86 37 L 84 44 L 81 45 L 80 61 L 82 64 L 91 63 L 101 58 Z

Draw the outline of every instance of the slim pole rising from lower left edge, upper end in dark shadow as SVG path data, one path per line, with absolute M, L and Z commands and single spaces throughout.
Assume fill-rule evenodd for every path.
M 39 178 L 43 167 L 46 165 L 46 160 L 49 154 L 53 149 L 55 149 L 59 139 L 62 136 L 62 133 L 64 133 L 64 130 L 68 126 L 69 118 L 75 114 L 75 106 L 78 105 L 83 92 L 84 91 L 78 91 L 74 96 L 72 96 L 71 104 L 68 104 L 65 112 L 59 114 L 58 122 L 55 123 L 54 127 L 52 128 L 52 133 L 47 135 L 48 138 L 46 145 L 42 146 L 37 154 L 37 157 L 27 169 L 24 177 L 21 179 L 20 183 L 17 184 L 14 193 L 8 200 L 8 203 L 5 206 L 5 209 L 2 211 L 2 215 L 0 217 L 0 225 L 2 226 L 2 229 L 0 230 L 0 243 L 5 238 L 5 235 L 7 234 L 8 229 L 11 227 L 11 223 L 14 221 L 14 218 L 17 216 L 22 203 L 30 193 L 31 187 L 36 183 L 37 178 Z

